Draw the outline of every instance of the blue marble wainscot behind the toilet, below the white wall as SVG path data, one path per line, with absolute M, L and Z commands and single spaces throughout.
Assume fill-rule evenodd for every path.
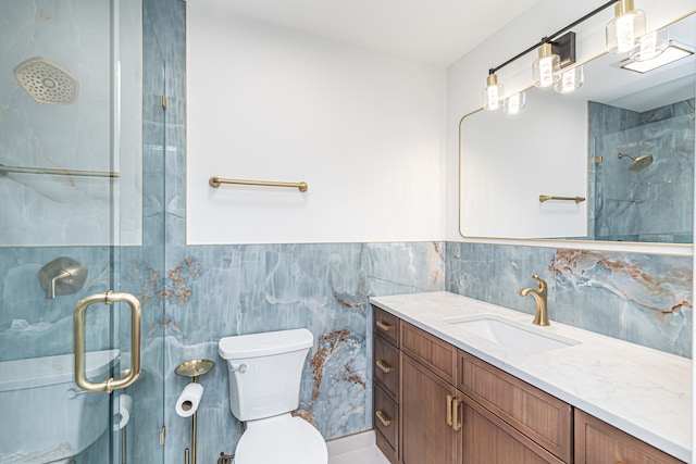
M 215 362 L 201 377 L 201 462 L 234 453 L 240 429 L 229 411 L 217 355 L 225 336 L 307 327 L 315 343 L 302 376 L 299 413 L 326 439 L 372 427 L 369 298 L 444 290 L 438 242 L 204 246 L 167 248 L 165 422 L 167 461 L 183 459 L 190 419 L 174 403 L 189 379 L 174 368 Z

